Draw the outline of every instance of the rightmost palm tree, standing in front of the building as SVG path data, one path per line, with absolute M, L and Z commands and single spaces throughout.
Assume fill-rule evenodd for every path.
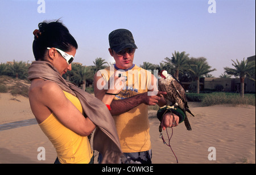
M 233 61 L 233 60 L 232 60 Z M 252 76 L 253 74 L 255 75 L 255 61 L 252 62 L 247 62 L 245 58 L 241 62 L 237 60 L 237 62 L 232 63 L 232 66 L 235 67 L 235 69 L 229 68 L 229 67 L 224 67 L 224 70 L 226 74 L 229 75 L 234 75 L 234 76 L 239 76 L 240 77 L 240 96 L 244 97 L 245 94 L 245 78 L 248 76 Z M 250 78 L 252 79 L 252 78 Z M 255 79 L 254 79 L 255 81 Z

